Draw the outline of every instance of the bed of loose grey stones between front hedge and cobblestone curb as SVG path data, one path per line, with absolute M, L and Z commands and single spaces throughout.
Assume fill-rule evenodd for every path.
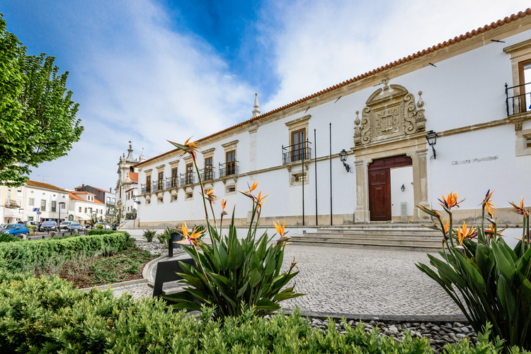
M 265 315 L 265 320 L 270 318 Z M 326 331 L 329 329 L 328 319 L 309 318 L 310 325 L 314 329 Z M 406 331 L 411 332 L 411 338 L 427 338 L 434 353 L 440 353 L 446 344 L 452 344 L 461 341 L 463 338 L 468 338 L 471 345 L 474 346 L 477 341 L 477 334 L 472 329 L 472 326 L 462 324 L 459 322 L 440 323 L 435 324 L 431 322 L 380 322 L 380 321 L 354 321 L 350 320 L 347 323 L 339 319 L 336 321 L 336 331 L 340 334 L 345 334 L 345 326 L 357 327 L 362 324 L 366 332 L 379 330 L 378 336 L 389 336 L 395 341 L 401 343 L 406 337 Z

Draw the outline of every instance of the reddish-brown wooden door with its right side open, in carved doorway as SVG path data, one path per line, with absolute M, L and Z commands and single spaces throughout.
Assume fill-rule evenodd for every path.
M 391 169 L 411 166 L 406 155 L 380 158 L 369 165 L 369 210 L 371 221 L 391 220 Z

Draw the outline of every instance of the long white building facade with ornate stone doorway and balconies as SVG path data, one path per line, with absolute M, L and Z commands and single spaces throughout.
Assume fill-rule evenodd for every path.
M 527 10 L 265 114 L 255 99 L 251 119 L 200 139 L 198 165 L 241 226 L 251 203 L 237 191 L 256 181 L 269 194 L 265 226 L 421 222 L 416 205 L 437 206 L 449 191 L 466 198 L 455 218 L 476 223 L 489 189 L 498 223 L 521 223 L 507 201 L 531 198 L 530 73 Z M 141 227 L 204 220 L 191 157 L 181 155 L 120 160 L 119 174 L 138 172 Z

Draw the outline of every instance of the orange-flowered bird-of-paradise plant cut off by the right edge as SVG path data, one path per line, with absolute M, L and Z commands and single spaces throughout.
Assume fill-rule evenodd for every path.
M 433 271 L 426 264 L 416 264 L 452 297 L 475 331 L 487 322 L 493 333 L 508 346 L 531 348 L 531 247 L 529 210 L 523 199 L 520 205 L 510 202 L 513 211 L 523 216 L 523 237 L 514 249 L 503 240 L 496 225 L 495 206 L 488 191 L 481 202 L 481 226 L 467 228 L 466 223 L 453 228 L 452 208 L 459 207 L 456 194 L 440 200 L 447 220 L 438 211 L 418 206 L 438 220 L 443 234 L 442 260 L 428 254 Z M 489 224 L 486 228 L 485 223 Z M 477 237 L 477 242 L 474 238 Z

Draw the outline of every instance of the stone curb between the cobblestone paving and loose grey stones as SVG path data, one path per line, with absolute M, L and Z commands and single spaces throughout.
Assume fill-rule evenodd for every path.
M 292 314 L 293 309 L 282 308 L 285 314 Z M 280 313 L 281 310 L 276 310 L 274 313 Z M 348 314 L 341 312 L 317 312 L 317 311 L 307 311 L 304 309 L 300 310 L 300 314 L 303 317 L 313 317 L 313 318 L 328 318 L 341 319 L 345 317 L 346 319 L 356 319 L 361 321 L 397 321 L 397 322 L 418 322 L 418 321 L 427 321 L 427 322 L 462 322 L 468 323 L 467 317 L 459 314 L 418 314 L 418 315 L 408 315 L 408 314 Z

